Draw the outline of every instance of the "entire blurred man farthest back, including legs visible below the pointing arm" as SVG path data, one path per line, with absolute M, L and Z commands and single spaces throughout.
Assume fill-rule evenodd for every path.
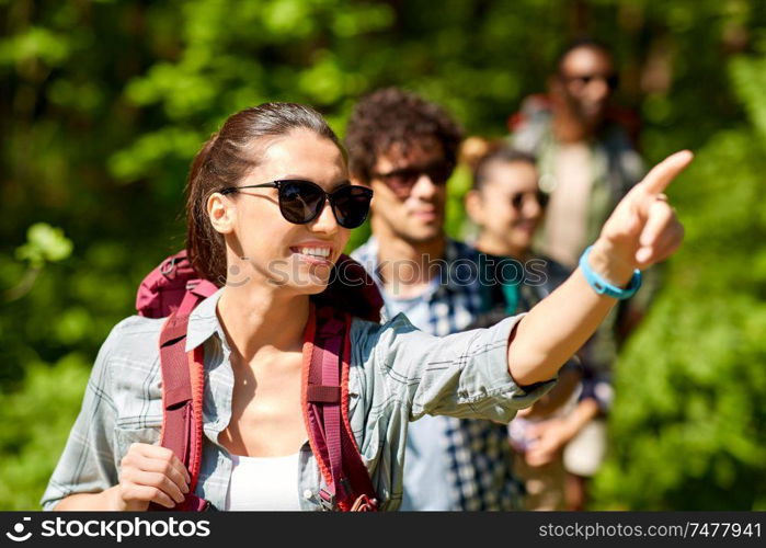
M 595 41 L 578 41 L 559 56 L 548 95 L 528 98 L 510 121 L 511 142 L 538 158 L 540 189 L 549 195 L 536 248 L 570 269 L 644 172 L 631 139 L 637 118 L 610 104 L 617 84 L 610 50 Z M 644 282 L 656 285 L 656 271 Z M 613 399 L 611 367 L 619 344 L 640 321 L 651 293 L 644 288 L 640 301 L 615 308 L 579 353 L 586 396 L 598 402 L 602 416 Z M 598 470 L 605 452 L 601 418 L 567 447 L 571 510 L 583 509 L 586 478 Z

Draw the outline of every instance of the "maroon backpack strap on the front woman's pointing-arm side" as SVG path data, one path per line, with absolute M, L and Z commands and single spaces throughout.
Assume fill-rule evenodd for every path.
M 304 343 L 304 420 L 330 510 L 375 511 L 377 495 L 348 423 L 351 316 L 311 306 Z

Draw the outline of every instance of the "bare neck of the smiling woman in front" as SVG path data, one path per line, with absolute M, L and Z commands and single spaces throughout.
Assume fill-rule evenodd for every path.
M 309 297 L 253 283 L 226 286 L 217 313 L 232 351 L 248 363 L 264 346 L 301 349 Z

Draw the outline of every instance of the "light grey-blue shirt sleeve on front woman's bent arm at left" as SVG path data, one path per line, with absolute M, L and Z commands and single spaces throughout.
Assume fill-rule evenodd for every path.
M 110 357 L 119 344 L 118 323 L 106 338 L 91 370 L 80 414 L 43 494 L 43 510 L 54 510 L 73 493 L 96 493 L 117 484 L 113 431 L 116 408 L 112 396 Z

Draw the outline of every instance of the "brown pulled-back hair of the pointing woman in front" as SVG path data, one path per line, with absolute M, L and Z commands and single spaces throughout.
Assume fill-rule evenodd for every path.
M 221 189 L 237 186 L 258 165 L 258 139 L 298 128 L 330 139 L 345 158 L 321 114 L 295 103 L 264 103 L 231 115 L 197 152 L 186 182 L 186 250 L 201 276 L 218 286 L 226 283 L 226 243 L 207 217 L 207 199 Z

